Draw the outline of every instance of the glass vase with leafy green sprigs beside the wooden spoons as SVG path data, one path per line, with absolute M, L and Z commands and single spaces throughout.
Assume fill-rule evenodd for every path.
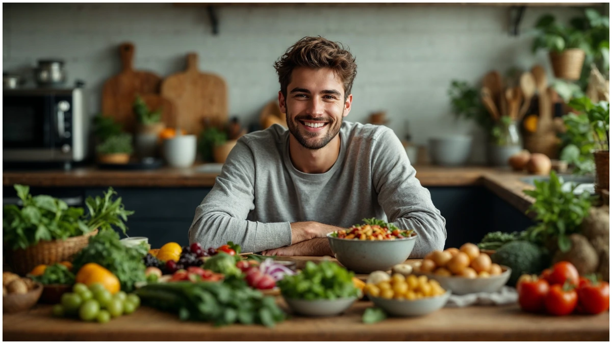
M 488 136 L 487 160 L 493 166 L 506 166 L 513 154 L 521 151 L 516 122 L 510 116 L 494 119 L 480 100 L 480 91 L 465 81 L 453 80 L 450 105 L 457 118 L 473 119 Z

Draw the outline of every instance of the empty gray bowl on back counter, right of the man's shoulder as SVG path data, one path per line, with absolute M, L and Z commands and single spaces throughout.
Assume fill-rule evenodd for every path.
M 429 152 L 435 165 L 460 166 L 468 161 L 472 136 L 449 135 L 430 138 Z

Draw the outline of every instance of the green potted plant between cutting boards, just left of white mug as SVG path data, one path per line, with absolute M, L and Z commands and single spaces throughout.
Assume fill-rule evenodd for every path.
M 159 135 L 165 128 L 162 122 L 162 111 L 160 109 L 151 111 L 140 95 L 132 105 L 136 115 L 136 137 L 135 151 L 138 157 L 153 157 L 157 155 L 159 147 Z

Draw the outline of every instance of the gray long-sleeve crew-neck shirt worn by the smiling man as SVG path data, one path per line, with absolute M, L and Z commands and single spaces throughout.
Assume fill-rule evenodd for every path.
M 411 258 L 443 249 L 446 220 L 393 130 L 345 121 L 338 135 L 338 159 L 319 174 L 293 166 L 289 131 L 280 125 L 242 136 L 196 208 L 189 241 L 204 247 L 233 241 L 259 252 L 291 245 L 291 222 L 348 228 L 376 217 L 416 230 Z

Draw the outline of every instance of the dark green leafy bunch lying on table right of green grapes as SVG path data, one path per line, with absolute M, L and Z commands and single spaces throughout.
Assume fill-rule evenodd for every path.
M 274 297 L 263 296 L 244 280 L 153 283 L 136 290 L 143 304 L 179 314 L 181 320 L 274 327 L 285 320 Z

